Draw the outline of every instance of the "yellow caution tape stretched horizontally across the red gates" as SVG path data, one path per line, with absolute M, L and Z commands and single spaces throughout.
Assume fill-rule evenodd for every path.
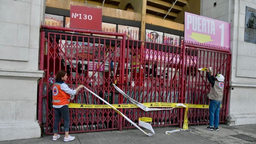
M 175 107 L 179 103 L 164 103 L 164 102 L 153 102 L 153 103 L 142 103 L 146 107 Z M 184 104 L 188 108 L 209 108 L 207 104 Z M 138 108 L 135 104 L 112 104 L 115 108 Z M 182 106 L 178 106 L 182 107 Z M 69 108 L 111 108 L 107 104 L 76 104 L 70 103 Z

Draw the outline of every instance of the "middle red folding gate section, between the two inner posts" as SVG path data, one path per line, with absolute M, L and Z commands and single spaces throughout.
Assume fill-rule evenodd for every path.
M 125 92 L 140 103 L 179 103 L 181 47 L 128 40 L 125 63 Z M 124 103 L 130 103 L 126 99 Z M 126 108 L 124 114 L 138 122 L 139 117 L 151 117 L 152 126 L 178 125 L 178 108 L 145 112 Z M 133 127 L 123 119 L 123 127 Z

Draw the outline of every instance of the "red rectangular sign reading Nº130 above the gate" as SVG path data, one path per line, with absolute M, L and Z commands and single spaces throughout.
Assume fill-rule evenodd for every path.
M 70 27 L 101 30 L 102 9 L 70 5 Z

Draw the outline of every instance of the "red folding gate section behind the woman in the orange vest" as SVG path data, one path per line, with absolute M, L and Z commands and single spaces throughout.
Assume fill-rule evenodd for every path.
M 43 27 L 52 30 L 61 30 L 60 27 Z M 69 28 L 63 28 L 63 30 L 71 31 Z M 91 30 L 80 31 L 81 33 L 125 36 L 124 34 L 118 33 Z M 125 39 L 63 34 L 51 30 L 46 30 L 46 32 L 46 36 L 44 36 L 44 31 L 41 32 L 40 69 L 45 70 L 46 76 L 40 81 L 38 119 L 39 122 L 42 122 L 44 132 L 51 134 L 53 133 L 54 111 L 51 103 L 52 83 L 48 82 L 48 80 L 52 79 L 54 82 L 54 75 L 59 70 L 64 69 L 69 77 L 66 83 L 70 85 L 70 88 L 74 89 L 78 84 L 83 84 L 110 104 L 114 104 L 114 100 L 116 100 L 118 94 L 114 93 L 114 87 L 110 84 L 115 82 L 117 74 L 121 75 L 122 71 L 120 68 L 114 69 L 112 66 L 122 66 L 120 48 L 125 47 L 123 46 Z M 46 37 L 46 40 L 44 40 L 44 37 Z M 44 42 L 47 45 L 45 51 L 43 51 Z M 45 52 L 47 55 L 43 55 Z M 122 81 L 123 78 L 118 80 L 119 83 Z M 80 91 L 72 102 L 80 104 L 103 104 L 102 101 L 85 90 Z M 40 103 L 42 103 L 42 109 Z M 119 115 L 112 109 L 70 108 L 69 131 L 73 133 L 120 129 L 119 120 Z M 59 132 L 61 133 L 64 133 L 63 124 L 64 121 L 61 119 L 59 124 Z

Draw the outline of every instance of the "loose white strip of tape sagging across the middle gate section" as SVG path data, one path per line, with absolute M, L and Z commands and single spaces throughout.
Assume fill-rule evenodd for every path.
M 142 110 L 144 111 L 153 111 L 153 110 L 172 110 L 174 109 L 175 107 L 178 107 L 178 106 L 182 106 L 182 107 L 186 107 L 184 104 L 176 104 L 175 107 L 173 108 L 149 108 L 149 107 L 146 107 L 144 104 L 142 103 L 139 103 L 138 101 L 135 101 L 134 99 L 130 98 L 125 92 L 123 92 L 120 88 L 118 88 L 115 84 L 113 84 L 114 87 L 117 89 L 118 92 L 120 92 L 120 94 L 122 94 L 125 98 L 127 98 L 129 101 L 131 101 L 133 104 L 135 104 L 136 106 L 138 106 L 139 108 L 141 108 Z

